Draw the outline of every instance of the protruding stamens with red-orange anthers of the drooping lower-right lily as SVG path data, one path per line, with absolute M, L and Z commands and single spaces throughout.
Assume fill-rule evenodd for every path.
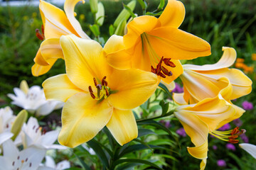
M 217 137 L 218 139 L 223 140 L 225 142 L 236 144 L 239 142 L 239 140 L 237 139 L 238 136 L 242 135 L 245 132 L 246 130 L 239 130 L 239 128 L 237 127 L 234 128 L 233 130 L 228 131 L 213 130 L 213 132 L 210 132 L 210 135 L 213 135 L 214 137 Z

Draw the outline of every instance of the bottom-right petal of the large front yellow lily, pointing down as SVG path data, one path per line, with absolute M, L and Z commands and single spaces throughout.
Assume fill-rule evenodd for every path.
M 121 111 L 114 108 L 107 128 L 121 146 L 138 136 L 137 123 L 131 110 Z

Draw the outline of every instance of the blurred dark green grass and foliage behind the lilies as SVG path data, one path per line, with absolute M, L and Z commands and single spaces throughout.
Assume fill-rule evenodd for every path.
M 114 22 L 123 8 L 122 2 L 127 4 L 127 1 L 102 1 L 105 6 L 105 23 L 104 27 L 100 28 L 100 32 L 105 40 L 109 37 L 110 24 Z M 148 11 L 154 11 L 159 4 L 159 1 L 147 2 L 149 4 Z M 256 53 L 255 0 L 183 0 L 182 2 L 186 7 L 186 17 L 180 28 L 207 40 L 212 51 L 212 55 L 189 61 L 189 63 L 213 64 L 220 59 L 222 55 L 221 48 L 228 46 L 235 48 L 238 57 L 245 59 L 245 64 L 255 67 L 255 61 L 251 59 L 252 53 Z M 63 6 L 60 8 L 63 8 Z M 88 2 L 77 6 L 75 11 L 78 13 L 77 18 L 83 30 L 93 38 L 89 29 L 89 25 L 93 24 L 93 17 Z M 134 13 L 142 14 L 139 3 L 137 3 Z M 30 86 L 41 85 L 48 77 L 65 72 L 63 60 L 58 60 L 48 74 L 41 77 L 32 76 L 33 58 L 41 44 L 41 41 L 36 38 L 35 30 L 41 28 L 41 24 L 38 7 L 0 6 L 0 106 L 6 106 L 11 102 L 6 94 L 13 93 L 13 88 L 18 86 L 21 80 L 26 79 Z M 247 76 L 253 81 L 252 94 L 234 101 L 238 106 L 241 106 L 242 101 L 250 101 L 254 106 L 256 104 L 255 72 L 249 73 Z M 152 110 L 145 111 L 146 115 L 154 113 Z M 242 128 L 247 130 L 250 143 L 256 144 L 256 110 L 247 111 L 241 120 L 243 122 Z M 169 128 L 171 132 L 181 128 L 181 124 L 174 118 L 169 118 L 166 121 L 171 121 L 171 128 Z M 231 125 L 235 128 L 235 125 Z M 142 128 L 149 127 L 142 125 Z M 154 157 L 158 160 L 158 164 L 166 169 L 198 169 L 200 161 L 191 157 L 186 150 L 186 146 L 192 146 L 189 137 L 178 137 L 178 135 L 171 137 L 159 128 L 151 128 L 151 130 L 152 134 L 139 139 L 151 142 L 151 144 L 162 141 L 161 145 L 169 147 L 170 150 L 156 149 L 152 152 L 152 150 L 146 149 L 144 152 L 129 153 L 127 157 L 144 159 Z M 97 139 L 102 140 L 100 135 L 101 133 L 97 135 Z M 174 142 L 174 138 L 179 141 L 179 145 Z M 103 137 L 103 139 L 105 138 Z M 107 141 L 107 138 L 105 140 Z M 137 144 L 136 141 L 134 144 Z M 218 146 L 216 151 L 213 151 L 213 145 Z M 235 152 L 227 152 L 225 142 L 210 138 L 207 169 L 256 169 L 255 159 L 241 151 L 238 145 L 236 145 L 236 149 Z M 74 152 L 85 161 L 92 162 L 91 167 L 101 169 L 100 166 L 96 166 L 99 162 L 98 157 L 88 159 L 88 153 L 85 153 L 82 148 L 77 148 Z M 73 155 L 68 159 L 75 160 L 77 157 Z M 225 159 L 228 165 L 225 168 L 218 167 L 216 164 L 218 159 Z M 75 165 L 79 167 L 78 164 Z M 148 166 L 137 166 L 137 169 L 146 169 L 146 167 Z

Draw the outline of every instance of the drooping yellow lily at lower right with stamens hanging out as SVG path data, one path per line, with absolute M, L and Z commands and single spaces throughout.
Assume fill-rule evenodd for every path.
M 227 78 L 223 78 L 228 81 Z M 239 118 L 245 111 L 238 106 L 234 106 L 224 98 L 232 94 L 232 85 L 223 88 L 214 98 L 205 98 L 202 101 L 178 106 L 174 115 L 180 120 L 184 130 L 191 137 L 191 142 L 195 147 L 188 147 L 188 152 L 197 159 L 202 159 L 201 169 L 206 167 L 208 152 L 208 133 L 220 140 L 237 143 L 238 135 L 244 130 L 218 131 L 217 129 L 236 118 Z

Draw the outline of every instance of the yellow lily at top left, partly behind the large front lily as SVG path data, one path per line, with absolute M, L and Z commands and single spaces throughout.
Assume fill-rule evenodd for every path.
M 43 21 L 42 33 L 37 29 L 36 35 L 43 40 L 34 58 L 35 64 L 31 68 L 33 76 L 46 74 L 59 58 L 64 59 L 60 47 L 60 36 L 74 34 L 80 38 L 90 39 L 82 31 L 80 23 L 75 19 L 74 8 L 81 0 L 66 0 L 64 11 L 41 0 L 39 9 Z M 84 0 L 82 0 L 85 3 Z

